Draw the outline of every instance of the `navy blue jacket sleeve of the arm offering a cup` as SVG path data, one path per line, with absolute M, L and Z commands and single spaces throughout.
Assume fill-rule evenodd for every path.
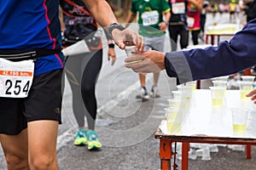
M 256 19 L 218 47 L 166 53 L 166 73 L 178 83 L 220 77 L 256 65 Z

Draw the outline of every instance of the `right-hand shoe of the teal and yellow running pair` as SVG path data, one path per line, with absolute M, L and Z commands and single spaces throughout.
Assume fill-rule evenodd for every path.
M 87 138 L 88 138 L 88 142 L 87 142 L 88 150 L 99 150 L 102 148 L 102 144 L 101 144 L 100 140 L 98 139 L 98 135 L 95 131 L 90 130 L 87 133 Z

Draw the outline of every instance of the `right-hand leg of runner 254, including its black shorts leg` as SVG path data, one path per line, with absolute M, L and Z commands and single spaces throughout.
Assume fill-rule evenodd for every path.
M 56 139 L 61 123 L 62 69 L 34 77 L 24 101 L 31 169 L 58 169 Z

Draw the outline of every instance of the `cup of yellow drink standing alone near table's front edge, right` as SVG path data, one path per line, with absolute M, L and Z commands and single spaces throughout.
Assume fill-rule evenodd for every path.
M 248 111 L 241 108 L 232 108 L 232 127 L 234 134 L 245 134 Z

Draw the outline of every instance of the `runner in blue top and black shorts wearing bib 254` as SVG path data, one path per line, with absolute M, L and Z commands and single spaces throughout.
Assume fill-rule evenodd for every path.
M 84 3 L 119 48 L 143 51 L 143 37 L 124 30 L 106 1 Z M 59 1 L 0 1 L 0 16 L 0 143 L 7 169 L 58 169 L 64 66 Z

